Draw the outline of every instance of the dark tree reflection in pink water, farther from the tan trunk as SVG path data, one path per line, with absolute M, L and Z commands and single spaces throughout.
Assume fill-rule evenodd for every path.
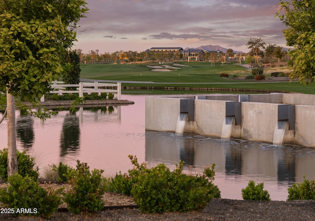
M 79 118 L 75 113 L 65 115 L 60 137 L 60 156 L 76 152 L 80 146 Z

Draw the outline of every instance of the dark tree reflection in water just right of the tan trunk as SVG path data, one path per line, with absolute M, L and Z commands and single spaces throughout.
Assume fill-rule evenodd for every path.
M 34 143 L 33 118 L 21 111 L 16 121 L 16 137 L 21 141 L 24 148 L 31 148 Z

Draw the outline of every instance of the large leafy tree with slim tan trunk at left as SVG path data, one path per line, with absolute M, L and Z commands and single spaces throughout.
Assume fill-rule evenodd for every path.
M 8 176 L 17 172 L 15 98 L 35 100 L 63 68 L 85 0 L 0 1 L 0 89 L 7 93 Z

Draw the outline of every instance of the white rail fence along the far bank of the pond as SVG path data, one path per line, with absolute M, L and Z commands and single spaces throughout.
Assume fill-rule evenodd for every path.
M 122 83 L 118 82 L 116 84 L 109 83 L 99 83 L 95 81 L 94 83 L 80 82 L 79 84 L 64 84 L 62 81 L 53 81 L 51 87 L 53 91 L 51 94 L 65 94 L 65 93 L 79 93 L 80 97 L 83 97 L 83 93 L 115 93 L 117 94 L 117 100 L 121 100 L 121 87 Z M 66 91 L 68 87 L 76 88 L 73 91 Z M 117 87 L 117 89 L 102 89 L 104 87 Z M 45 101 L 45 97 L 40 98 L 41 102 Z

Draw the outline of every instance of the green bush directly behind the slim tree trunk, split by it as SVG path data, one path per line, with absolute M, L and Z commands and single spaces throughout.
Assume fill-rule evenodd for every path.
M 34 158 L 26 154 L 25 151 L 19 152 L 17 150 L 17 159 L 18 159 L 18 173 L 22 177 L 27 175 L 37 180 L 39 173 L 38 167 L 35 167 Z M 7 182 L 8 180 L 8 149 L 4 148 L 0 150 L 0 177 L 3 181 Z

